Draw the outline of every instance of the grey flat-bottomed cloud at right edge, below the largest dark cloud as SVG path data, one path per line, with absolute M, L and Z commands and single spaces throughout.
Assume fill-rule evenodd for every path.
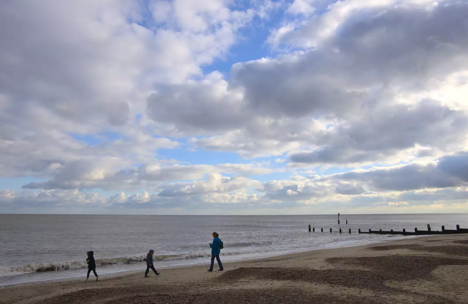
M 292 162 L 362 163 L 386 159 L 416 144 L 445 150 L 459 143 L 468 130 L 465 112 L 434 101 L 421 102 L 414 108 L 388 106 L 364 111 L 363 115 L 364 119 L 354 118 L 318 136 L 315 143 L 322 148 L 293 154 Z

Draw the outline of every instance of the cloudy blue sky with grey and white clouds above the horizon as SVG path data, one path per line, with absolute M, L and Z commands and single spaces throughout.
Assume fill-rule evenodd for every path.
M 468 212 L 468 2 L 6 0 L 0 213 Z

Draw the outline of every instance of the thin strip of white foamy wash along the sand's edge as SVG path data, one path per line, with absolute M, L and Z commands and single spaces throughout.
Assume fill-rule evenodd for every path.
M 417 238 L 427 238 L 427 237 L 432 237 L 432 235 L 387 236 L 387 237 L 384 236 L 384 237 L 381 237 L 379 239 L 374 239 L 374 240 L 367 240 L 367 241 L 361 241 L 361 242 L 357 242 L 357 243 L 349 243 L 349 244 L 344 244 L 344 245 L 322 247 L 322 248 L 316 248 L 316 249 L 299 249 L 299 250 L 290 250 L 290 251 L 281 251 L 281 252 L 265 252 L 264 256 L 262 256 L 262 257 L 253 257 L 253 258 L 252 257 L 244 257 L 244 258 L 237 258 L 237 259 L 229 259 L 229 260 L 226 260 L 226 262 L 224 262 L 224 260 L 223 260 L 223 264 L 240 262 L 240 261 L 258 261 L 258 260 L 263 260 L 263 259 L 287 256 L 287 255 L 290 255 L 290 254 L 297 254 L 297 253 L 308 253 L 308 252 L 315 252 L 315 251 L 320 251 L 320 250 L 330 250 L 330 249 L 340 249 L 340 248 L 354 248 L 354 247 L 375 245 L 375 244 L 380 244 L 380 243 L 394 242 L 394 241 L 405 240 L 405 239 L 417 239 Z M 271 254 L 269 254 L 269 253 L 271 253 Z M 223 256 L 220 256 L 220 257 L 221 257 L 221 259 L 223 258 Z M 142 262 L 142 264 L 143 264 L 143 262 Z M 210 264 L 210 260 L 207 257 L 205 259 L 205 261 L 197 261 L 197 262 L 193 262 L 193 263 L 183 263 L 183 264 L 160 266 L 160 267 L 158 267 L 158 265 L 155 265 L 155 268 L 158 268 L 158 269 L 176 269 L 176 268 L 189 268 L 189 267 L 194 267 L 194 266 L 202 266 L 202 265 L 208 265 L 208 264 Z M 80 268 L 80 269 L 83 269 L 83 271 L 85 271 L 87 268 Z M 139 269 L 132 269 L 132 270 L 117 270 L 117 271 L 113 271 L 113 272 L 103 272 L 102 275 L 99 274 L 99 276 L 101 277 L 101 276 L 109 276 L 109 275 L 119 275 L 119 276 L 132 275 L 132 274 L 140 273 L 140 272 L 145 271 L 145 270 L 146 270 L 146 267 L 139 268 Z M 56 271 L 64 271 L 64 270 L 56 270 Z M 51 279 L 45 279 L 45 280 L 44 279 L 39 279 L 39 280 L 28 281 L 28 282 L 0 284 L 0 289 L 8 288 L 8 287 L 15 287 L 15 286 L 26 286 L 28 284 L 34 284 L 34 283 L 42 284 L 42 283 L 48 283 L 48 282 L 67 282 L 67 281 L 75 281 L 75 280 L 78 281 L 81 278 L 84 278 L 85 276 L 86 276 L 86 274 L 81 274 L 81 275 L 65 276 L 65 277 L 51 278 Z

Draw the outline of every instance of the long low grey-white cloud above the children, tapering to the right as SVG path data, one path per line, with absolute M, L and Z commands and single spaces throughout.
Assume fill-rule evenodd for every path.
M 57 170 L 48 181 L 30 182 L 22 188 L 28 189 L 89 189 L 128 190 L 146 187 L 155 188 L 164 181 L 189 181 L 202 179 L 206 174 L 270 174 L 283 169 L 269 169 L 253 164 L 212 165 L 162 165 L 143 164 L 125 168 L 118 158 L 80 159 Z M 214 175 L 213 175 L 214 174 Z M 243 178 L 243 177 L 239 177 Z M 239 179 L 237 179 L 239 180 Z

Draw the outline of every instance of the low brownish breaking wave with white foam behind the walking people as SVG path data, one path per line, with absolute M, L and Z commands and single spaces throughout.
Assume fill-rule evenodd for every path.
M 221 255 L 238 255 L 249 252 L 233 252 L 233 253 L 221 253 Z M 209 253 L 183 253 L 183 254 L 172 254 L 172 255 L 154 255 L 153 261 L 170 261 L 170 260 L 186 260 L 186 259 L 197 259 L 211 257 Z M 96 259 L 97 267 L 105 267 L 110 264 L 131 264 L 138 262 L 145 262 L 146 255 L 140 256 L 128 256 L 120 258 L 110 259 Z M 44 271 L 63 271 L 72 270 L 79 268 L 88 268 L 88 264 L 85 260 L 82 261 L 69 261 L 69 262 L 52 262 L 52 263 L 29 263 L 26 266 L 15 266 L 10 268 L 0 268 L 0 276 L 12 276 L 12 275 L 24 275 L 35 272 Z

